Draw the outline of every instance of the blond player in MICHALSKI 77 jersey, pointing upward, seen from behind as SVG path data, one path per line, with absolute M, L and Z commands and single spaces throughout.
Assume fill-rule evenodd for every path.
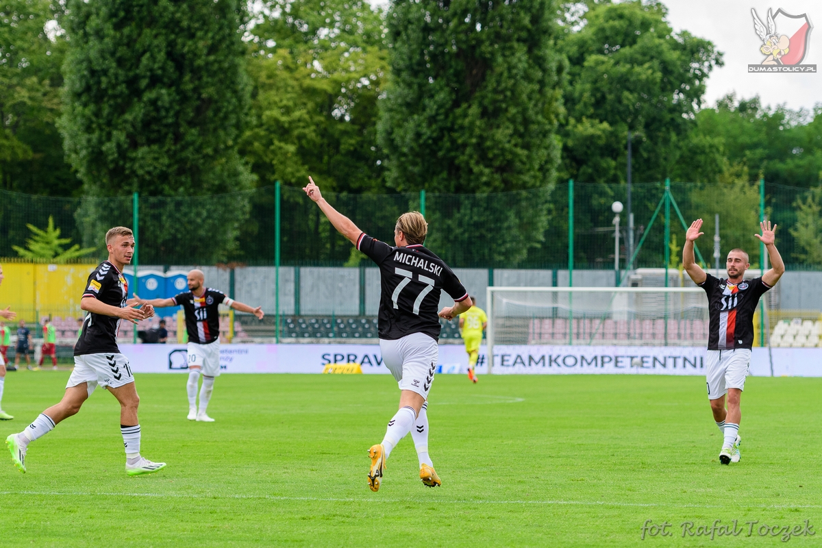
M 323 200 L 311 177 L 308 181 L 302 190 L 320 206 L 339 233 L 380 267 L 380 352 L 399 383 L 400 395 L 399 411 L 388 422 L 386 436 L 368 451 L 368 486 L 373 491 L 380 489 L 386 460 L 409 431 L 417 448 L 420 479 L 425 486 L 439 486 L 440 478 L 428 456 L 427 417 L 428 391 L 439 354 L 436 343 L 440 321 L 436 307 L 441 291 L 445 290 L 455 304 L 443 308 L 439 316 L 451 320 L 471 307 L 468 292 L 448 265 L 423 247 L 428 224 L 422 214 L 411 211 L 400 215 L 394 229 L 396 246 L 390 246 L 363 233 L 351 219 L 339 214 Z

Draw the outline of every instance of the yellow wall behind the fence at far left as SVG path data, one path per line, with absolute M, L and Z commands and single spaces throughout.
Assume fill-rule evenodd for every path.
M 79 317 L 85 281 L 96 265 L 46 265 L 3 262 L 0 306 L 11 306 L 18 318 L 35 321 L 44 315 Z

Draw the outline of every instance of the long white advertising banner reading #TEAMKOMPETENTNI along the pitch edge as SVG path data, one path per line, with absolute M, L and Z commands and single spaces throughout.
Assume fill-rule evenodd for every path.
M 120 351 L 138 373 L 173 373 L 186 367 L 182 344 L 121 344 Z M 479 374 L 487 368 L 480 348 Z M 769 353 L 770 352 L 770 353 Z M 495 374 L 704 375 L 704 348 L 496 345 Z M 359 363 L 363 373 L 388 373 L 376 344 L 224 344 L 224 373 L 321 373 L 329 363 Z M 822 376 L 822 348 L 754 348 L 750 374 Z M 461 345 L 440 346 L 438 373 L 464 374 L 468 355 Z

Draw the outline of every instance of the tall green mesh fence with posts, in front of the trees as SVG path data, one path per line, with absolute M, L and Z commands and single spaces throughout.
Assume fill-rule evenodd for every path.
M 626 204 L 622 185 L 561 182 L 551 187 L 496 194 L 434 192 L 345 194 L 324 192 L 332 205 L 367 233 L 391 242 L 395 219 L 424 211 L 427 246 L 464 268 L 613 269 L 612 203 Z M 631 189 L 634 239 L 628 211 L 621 213 L 620 269 L 632 251 L 635 267 L 676 268 L 683 225 L 704 219 L 698 242 L 713 265 L 714 219 L 721 250 L 749 251 L 758 265 L 753 234 L 761 218 L 778 223 L 777 244 L 790 269 L 822 268 L 822 190 L 768 182 L 635 183 Z M 247 265 L 358 265 L 363 256 L 339 236 L 297 187 L 262 187 L 220 196 L 115 196 L 53 198 L 0 191 L 0 256 L 26 246 L 27 224 L 45 228 L 49 217 L 71 243 L 104 257 L 105 231 L 137 226 L 143 265 L 228 262 Z M 71 243 L 66 244 L 71 245 Z M 641 245 L 640 245 L 641 244 Z

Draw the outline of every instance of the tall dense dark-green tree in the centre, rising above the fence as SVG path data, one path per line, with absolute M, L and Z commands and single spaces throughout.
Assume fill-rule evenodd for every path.
M 388 12 L 379 125 L 388 187 L 544 187 L 559 159 L 556 3 L 420 0 Z

